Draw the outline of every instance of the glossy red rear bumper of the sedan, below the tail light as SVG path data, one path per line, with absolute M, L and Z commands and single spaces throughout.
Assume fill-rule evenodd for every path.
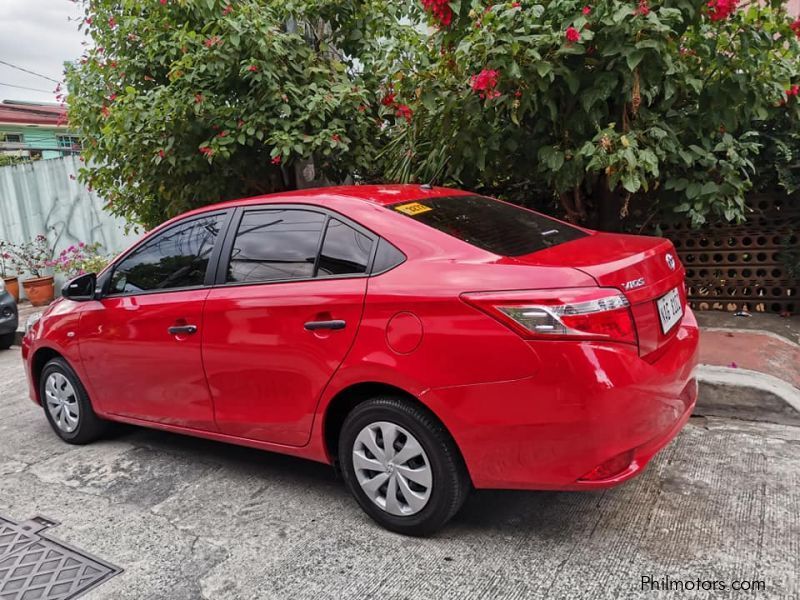
M 679 327 L 653 363 L 624 344 L 538 342 L 534 376 L 439 388 L 425 401 L 453 434 L 475 487 L 618 485 L 645 468 L 694 408 L 699 331 L 688 308 Z M 620 459 L 619 468 L 597 470 Z

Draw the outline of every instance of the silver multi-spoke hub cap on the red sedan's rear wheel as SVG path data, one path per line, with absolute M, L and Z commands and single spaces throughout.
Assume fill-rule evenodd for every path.
M 364 427 L 353 444 L 353 469 L 367 497 L 389 514 L 413 515 L 428 504 L 430 461 L 419 441 L 399 425 L 379 421 Z

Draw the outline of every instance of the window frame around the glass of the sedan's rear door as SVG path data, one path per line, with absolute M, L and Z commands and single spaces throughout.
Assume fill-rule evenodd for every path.
M 325 243 L 325 236 L 327 235 L 328 232 L 328 222 L 331 219 L 336 219 L 337 221 L 341 221 L 345 225 L 352 227 L 357 232 L 369 238 L 370 242 L 372 243 L 366 271 L 364 273 L 348 273 L 344 275 L 316 275 L 316 276 L 312 275 L 311 277 L 292 278 L 292 279 L 271 279 L 269 281 L 226 281 L 226 273 L 228 271 L 228 265 L 230 264 L 231 253 L 233 252 L 233 244 L 236 239 L 236 234 L 239 232 L 239 225 L 241 224 L 244 214 L 246 212 L 262 212 L 265 210 L 304 210 L 306 212 L 320 213 L 326 217 L 325 222 L 322 225 L 322 231 L 320 232 L 320 239 L 318 240 L 317 243 L 317 254 L 314 261 L 314 273 L 317 272 L 319 267 L 319 257 L 320 253 L 322 252 L 322 245 Z M 364 277 L 370 277 L 372 275 L 372 265 L 375 262 L 375 255 L 377 254 L 378 251 L 378 241 L 380 239 L 381 236 L 367 229 L 363 225 L 356 223 L 355 221 L 346 217 L 340 212 L 331 210 L 325 206 L 319 206 L 317 204 L 276 203 L 276 204 L 253 204 L 247 206 L 238 206 L 235 209 L 235 214 L 231 219 L 230 226 L 228 227 L 228 233 L 225 236 L 223 247 L 220 250 L 219 264 L 217 265 L 217 270 L 216 270 L 216 279 L 212 287 L 229 288 L 229 287 L 241 287 L 241 286 L 253 286 L 253 285 L 272 285 L 275 283 L 300 283 L 303 281 L 325 281 L 330 279 L 361 279 Z

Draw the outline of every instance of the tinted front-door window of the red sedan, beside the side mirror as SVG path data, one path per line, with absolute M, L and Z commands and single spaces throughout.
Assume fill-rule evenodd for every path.
M 111 294 L 201 286 L 224 215 L 191 219 L 156 234 L 124 258 L 111 277 Z

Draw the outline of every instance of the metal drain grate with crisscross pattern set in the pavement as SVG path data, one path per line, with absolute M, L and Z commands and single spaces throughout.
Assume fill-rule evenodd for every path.
M 0 517 L 0 600 L 69 600 L 122 569 L 40 535 L 57 525 L 44 517 L 15 523 Z

